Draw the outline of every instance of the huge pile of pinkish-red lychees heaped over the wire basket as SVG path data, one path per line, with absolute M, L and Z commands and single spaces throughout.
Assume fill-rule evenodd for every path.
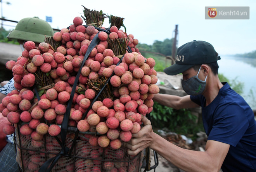
M 87 131 L 97 133 L 90 136 L 91 145 L 103 148 L 110 145 L 119 149 L 121 141 L 129 141 L 133 133 L 140 131 L 142 116 L 152 111 L 152 98 L 159 92 L 154 59 L 144 58 L 136 48 L 138 40 L 116 26 L 112 26 L 110 34 L 107 34 L 94 26 L 82 24 L 83 19 L 75 17 L 69 29 L 55 32 L 53 39 L 61 43 L 55 51 L 48 43 L 40 43 L 36 47 L 34 42 L 27 41 L 17 61 L 6 63 L 13 72 L 16 88 L 0 104 L 0 112 L 12 123 L 3 128 L 7 135 L 14 133 L 16 124 L 21 125 L 19 132 L 22 135 L 30 135 L 35 141 L 42 141 L 47 133 L 59 135 L 76 77 L 79 80 L 69 114 L 69 126 L 77 127 L 81 135 Z M 98 32 L 100 42 L 81 67 L 85 53 Z M 127 51 L 117 66 L 120 58 L 109 48 L 107 39 L 127 37 L 132 52 Z M 77 76 L 80 68 L 81 74 Z M 54 83 L 38 101 L 34 85 L 35 72 L 39 69 Z M 111 77 L 108 84 L 114 96 L 95 101 L 82 119 L 97 96 L 86 83 L 99 77 Z M 86 89 L 84 94 L 78 91 L 80 88 Z

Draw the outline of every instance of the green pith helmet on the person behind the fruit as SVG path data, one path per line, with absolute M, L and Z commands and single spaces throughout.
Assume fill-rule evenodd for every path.
M 21 19 L 7 37 L 42 43 L 45 40 L 45 35 L 50 37 L 53 34 L 54 31 L 50 24 L 38 17 L 33 17 Z

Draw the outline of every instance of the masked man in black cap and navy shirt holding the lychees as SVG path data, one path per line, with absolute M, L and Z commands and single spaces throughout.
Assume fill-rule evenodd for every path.
M 144 127 L 124 146 L 135 155 L 149 147 L 185 171 L 256 171 L 256 121 L 246 101 L 218 78 L 220 56 L 205 41 L 192 41 L 177 49 L 176 63 L 164 69 L 168 75 L 183 74 L 182 87 L 189 94 L 155 95 L 155 101 L 175 109 L 202 107 L 208 135 L 206 151 L 187 150 L 173 145 Z

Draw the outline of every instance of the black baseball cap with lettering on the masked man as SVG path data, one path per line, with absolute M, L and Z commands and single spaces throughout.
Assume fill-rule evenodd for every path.
M 194 65 L 212 63 L 217 60 L 220 60 L 220 56 L 216 56 L 216 51 L 210 43 L 194 40 L 177 49 L 175 64 L 165 68 L 164 73 L 177 75 Z

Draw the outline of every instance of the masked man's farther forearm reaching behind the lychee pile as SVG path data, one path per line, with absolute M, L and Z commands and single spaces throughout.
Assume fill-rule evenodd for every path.
M 183 97 L 170 94 L 156 94 L 153 98 L 154 101 L 159 102 L 160 104 L 174 109 L 183 109 L 183 108 L 195 108 L 199 107 L 198 104 L 194 103 L 190 99 L 190 95 L 185 95 Z

